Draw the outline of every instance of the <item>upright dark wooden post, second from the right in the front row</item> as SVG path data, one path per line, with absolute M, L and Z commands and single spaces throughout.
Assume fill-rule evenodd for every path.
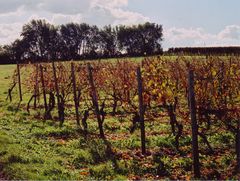
M 143 86 L 142 86 L 142 75 L 140 67 L 137 68 L 137 82 L 138 82 L 138 101 L 139 101 L 139 116 L 141 124 L 141 143 L 142 143 L 142 154 L 146 154 L 146 140 L 145 140 L 145 125 L 144 125 L 144 105 L 143 105 Z

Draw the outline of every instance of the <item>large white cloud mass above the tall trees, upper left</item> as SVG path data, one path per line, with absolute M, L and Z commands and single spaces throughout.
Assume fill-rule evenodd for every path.
M 0 0 L 0 44 L 19 38 L 22 26 L 32 19 L 53 24 L 68 22 L 136 24 L 149 19 L 127 9 L 129 0 Z M 16 24 L 18 26 L 16 26 Z M 11 27 L 8 31 L 3 27 Z

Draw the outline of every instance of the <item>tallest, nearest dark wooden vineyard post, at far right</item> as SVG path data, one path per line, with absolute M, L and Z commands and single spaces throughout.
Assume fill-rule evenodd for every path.
M 199 163 L 199 150 L 198 150 L 198 123 L 196 118 L 196 102 L 194 93 L 194 72 L 189 70 L 189 106 L 191 114 L 192 126 L 192 153 L 193 153 L 193 169 L 194 176 L 200 178 L 200 163 Z

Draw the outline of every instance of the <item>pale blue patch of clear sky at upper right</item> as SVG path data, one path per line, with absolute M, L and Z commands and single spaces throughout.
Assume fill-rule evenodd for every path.
M 202 27 L 209 33 L 240 23 L 239 0 L 130 0 L 129 9 L 166 27 Z

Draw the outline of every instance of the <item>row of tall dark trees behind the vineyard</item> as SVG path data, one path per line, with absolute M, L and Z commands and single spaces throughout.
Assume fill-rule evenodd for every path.
M 105 26 L 86 23 L 59 26 L 32 20 L 21 38 L 0 48 L 0 63 L 143 56 L 162 53 L 162 25 Z

